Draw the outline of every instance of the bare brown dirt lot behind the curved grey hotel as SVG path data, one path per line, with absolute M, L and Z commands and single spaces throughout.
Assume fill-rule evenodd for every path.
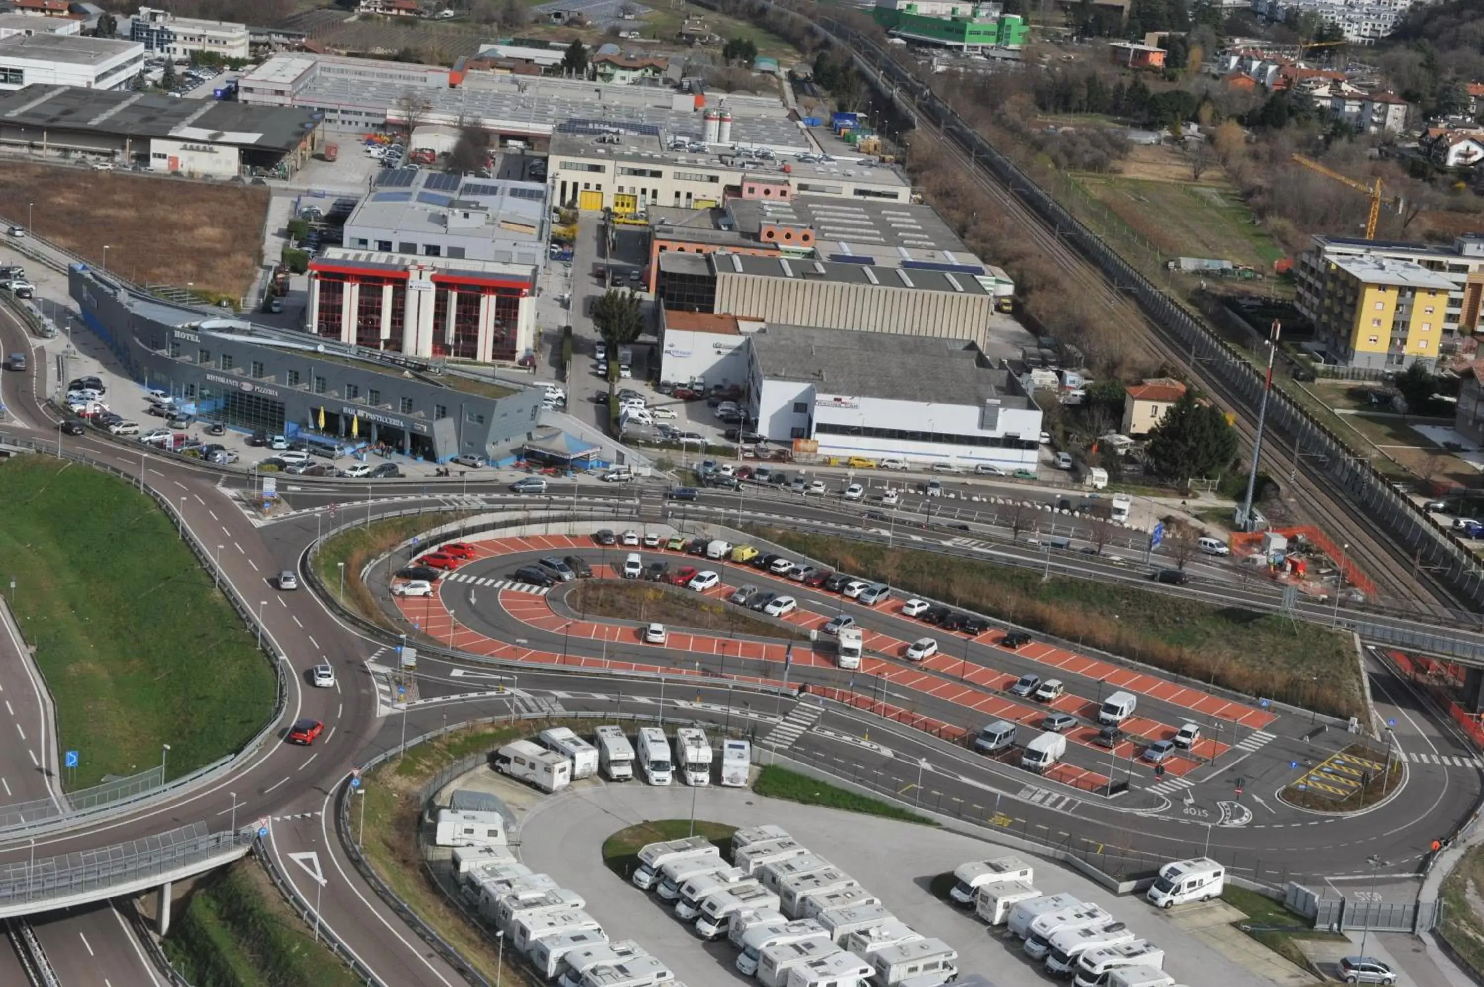
M 261 186 L 18 162 L 0 168 L 0 215 L 9 221 L 25 224 L 30 212 L 37 236 L 96 264 L 107 243 L 110 270 L 148 285 L 194 282 L 197 294 L 246 294 L 267 208 Z

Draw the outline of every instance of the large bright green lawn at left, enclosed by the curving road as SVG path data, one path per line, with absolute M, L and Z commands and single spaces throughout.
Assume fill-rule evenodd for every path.
M 160 761 L 180 776 L 230 754 L 273 711 L 276 680 L 157 505 L 86 466 L 0 466 L 10 609 L 56 704 L 68 788 Z

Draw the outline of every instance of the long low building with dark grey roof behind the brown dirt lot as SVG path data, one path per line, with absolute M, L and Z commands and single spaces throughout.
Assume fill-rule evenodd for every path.
M 25 40 L 42 37 L 47 36 Z M 0 42 L 0 49 L 13 40 Z M 142 52 L 137 43 L 114 43 Z M 184 175 L 282 177 L 319 148 L 319 122 L 307 110 L 31 86 L 25 92 L 0 94 L 0 147 L 37 157 L 86 156 Z

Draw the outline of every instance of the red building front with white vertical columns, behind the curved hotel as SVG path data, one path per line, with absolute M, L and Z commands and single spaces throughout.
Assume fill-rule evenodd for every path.
M 309 264 L 309 331 L 408 356 L 513 364 L 536 344 L 536 269 L 331 248 Z

